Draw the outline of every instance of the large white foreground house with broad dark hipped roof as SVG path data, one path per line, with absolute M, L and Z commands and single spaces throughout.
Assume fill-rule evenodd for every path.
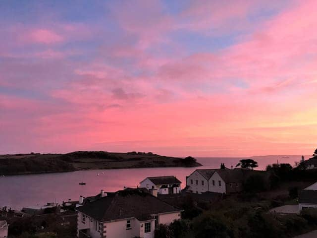
M 76 210 L 77 237 L 91 238 L 154 238 L 158 224 L 168 225 L 181 216 L 181 210 L 142 188 L 102 191 Z

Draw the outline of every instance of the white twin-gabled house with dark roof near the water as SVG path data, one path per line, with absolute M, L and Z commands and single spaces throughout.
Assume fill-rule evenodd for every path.
M 265 171 L 248 169 L 205 169 L 195 170 L 186 177 L 187 191 L 194 193 L 235 193 L 243 190 L 243 182 L 251 175 L 266 176 Z

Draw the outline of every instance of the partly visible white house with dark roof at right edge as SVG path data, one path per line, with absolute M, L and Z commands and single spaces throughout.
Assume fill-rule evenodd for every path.
M 317 208 L 317 182 L 303 189 L 299 194 L 299 210 Z

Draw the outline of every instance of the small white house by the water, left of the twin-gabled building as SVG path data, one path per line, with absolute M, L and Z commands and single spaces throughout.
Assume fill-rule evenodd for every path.
M 158 194 L 180 193 L 182 182 L 175 176 L 147 177 L 140 182 L 140 187 L 157 189 Z

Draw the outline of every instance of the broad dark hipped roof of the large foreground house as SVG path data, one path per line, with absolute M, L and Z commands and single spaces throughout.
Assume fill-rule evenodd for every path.
M 151 216 L 153 214 L 180 211 L 143 189 L 125 189 L 107 193 L 106 197 L 86 202 L 77 210 L 101 222 L 132 217 L 139 221 L 146 221 L 153 219 Z

